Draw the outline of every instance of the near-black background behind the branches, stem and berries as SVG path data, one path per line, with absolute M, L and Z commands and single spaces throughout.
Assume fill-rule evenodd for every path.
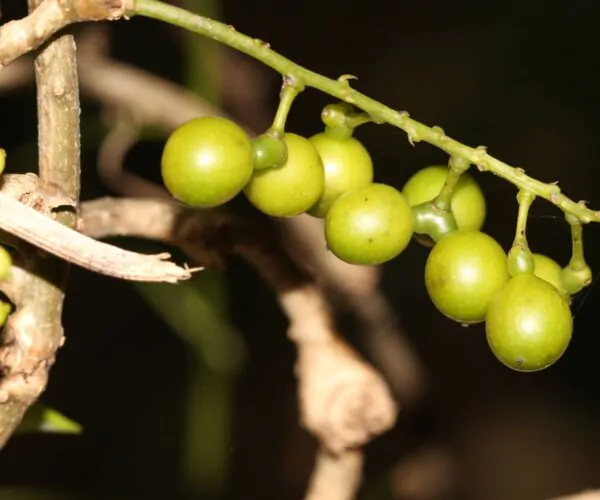
M 24 15 L 20 3 L 2 2 L 3 22 Z M 329 77 L 357 75 L 353 85 L 369 96 L 442 126 L 468 145 L 486 145 L 540 180 L 560 180 L 568 195 L 600 206 L 593 2 L 553 10 L 538 0 L 225 0 L 222 11 L 225 22 L 295 62 Z M 182 81 L 177 29 L 146 19 L 110 28 L 115 58 Z M 268 74 L 272 112 L 280 80 Z M 307 90 L 299 100 L 288 129 L 313 134 L 329 99 Z M 31 158 L 33 87 L 1 95 L 0 110 L 10 171 L 10 161 Z M 85 103 L 88 112 L 97 113 L 93 103 Z M 397 187 L 417 169 L 446 161 L 429 145 L 410 146 L 392 127 L 365 126 L 357 137 L 372 154 L 377 178 Z M 96 177 L 97 150 L 84 144 L 83 199 L 110 194 Z M 161 147 L 160 141 L 137 146 L 128 168 L 158 180 Z M 473 175 L 488 198 L 485 230 L 506 248 L 516 190 L 492 174 Z M 533 214 L 533 249 L 565 265 L 570 240 L 561 214 L 542 201 Z M 600 269 L 599 234 L 595 225 L 586 228 L 594 270 Z M 600 486 L 597 290 L 574 302 L 575 334 L 563 359 L 544 372 L 518 374 L 492 358 L 482 327 L 462 329 L 434 310 L 423 284 L 426 256 L 412 244 L 385 265 L 383 285 L 432 390 L 416 412 L 401 414 L 397 428 L 369 446 L 367 484 L 421 443 L 436 442 L 452 450 L 458 464 L 456 486 L 444 498 L 543 500 Z M 236 382 L 225 495 L 301 498 L 315 443 L 297 427 L 295 353 L 284 335 L 285 320 L 244 263 L 233 261 L 226 278 L 233 320 L 249 355 Z M 77 498 L 187 498 L 179 485 L 188 366 L 181 341 L 130 284 L 78 268 L 71 272 L 64 323 L 67 343 L 43 400 L 80 422 L 85 433 L 15 437 L 0 455 L 0 484 Z

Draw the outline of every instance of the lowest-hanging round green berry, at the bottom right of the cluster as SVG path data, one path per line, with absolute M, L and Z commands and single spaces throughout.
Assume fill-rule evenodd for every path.
M 573 333 L 567 301 L 550 283 L 519 274 L 492 300 L 486 335 L 494 355 L 513 370 L 543 370 L 565 352 Z

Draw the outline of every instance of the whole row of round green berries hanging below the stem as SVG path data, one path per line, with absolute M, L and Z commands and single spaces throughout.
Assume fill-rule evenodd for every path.
M 510 253 L 481 231 L 485 197 L 465 172 L 440 209 L 447 165 L 420 170 L 398 190 L 374 182 L 371 156 L 348 128 L 251 138 L 214 116 L 173 132 L 161 172 L 169 192 L 190 206 L 215 207 L 244 193 L 271 217 L 321 218 L 329 251 L 349 264 L 380 265 L 413 238 L 423 243 L 431 249 L 425 285 L 434 306 L 464 325 L 485 322 L 491 351 L 514 370 L 552 365 L 571 340 L 570 296 L 581 286 L 566 287 L 569 269 L 541 254 L 514 270 Z

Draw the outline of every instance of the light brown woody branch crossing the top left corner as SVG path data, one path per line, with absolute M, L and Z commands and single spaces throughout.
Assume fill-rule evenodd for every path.
M 62 28 L 82 21 L 116 20 L 130 5 L 129 0 L 44 0 L 30 2 L 35 9 L 0 27 L 0 69 L 37 49 Z

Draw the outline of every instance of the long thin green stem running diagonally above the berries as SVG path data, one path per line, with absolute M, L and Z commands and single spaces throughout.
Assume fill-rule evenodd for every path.
M 411 144 L 426 142 L 450 156 L 461 157 L 476 165 L 479 170 L 492 172 L 519 189 L 530 191 L 549 201 L 563 212 L 577 217 L 582 223 L 600 222 L 600 210 L 591 210 L 583 202 L 569 199 L 561 193 L 556 183 L 538 181 L 526 175 L 523 169 L 511 167 L 489 155 L 485 146 L 475 148 L 466 146 L 447 136 L 440 127 L 429 127 L 410 118 L 406 111 L 394 110 L 354 90 L 345 75 L 337 80 L 322 76 L 278 54 L 269 47 L 268 43 L 236 31 L 233 26 L 193 14 L 159 0 L 135 0 L 126 14 L 130 17 L 138 15 L 163 21 L 228 45 L 261 61 L 282 75 L 298 79 L 307 87 L 353 104 L 369 113 L 374 123 L 387 123 L 404 130 Z

